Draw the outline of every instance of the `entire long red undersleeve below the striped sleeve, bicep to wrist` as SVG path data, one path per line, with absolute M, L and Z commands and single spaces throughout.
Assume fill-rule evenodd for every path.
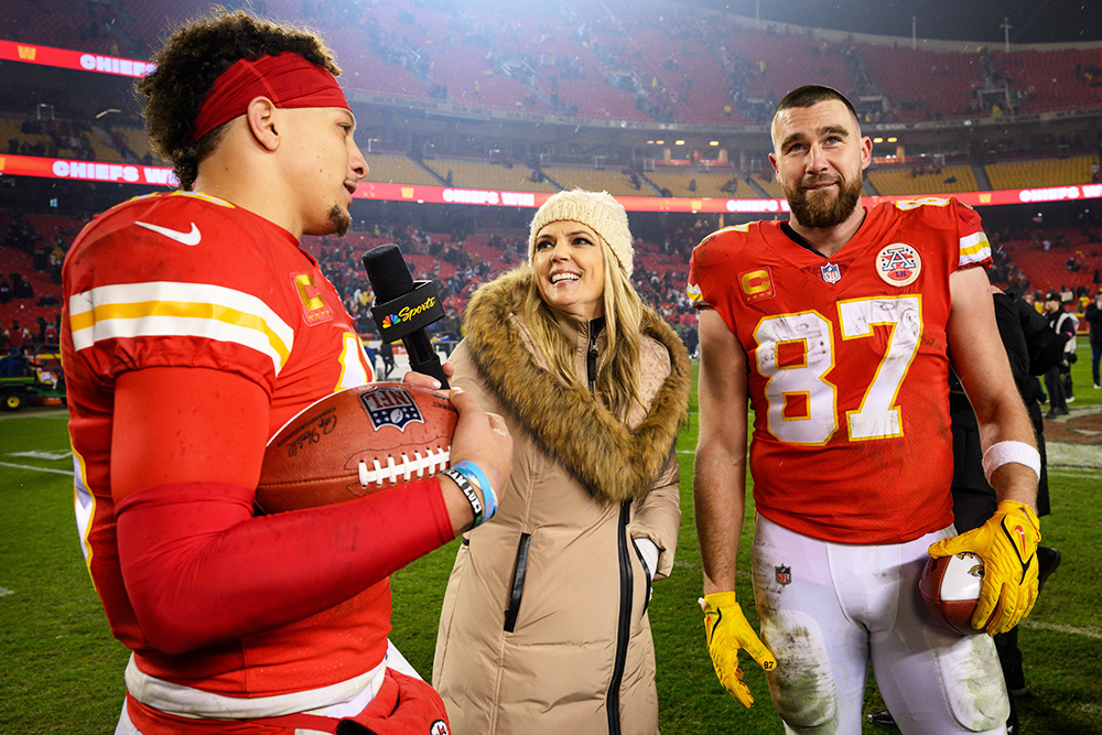
M 320 613 L 454 536 L 437 479 L 255 518 L 268 436 L 261 387 L 214 369 L 150 368 L 121 375 L 116 388 L 119 562 L 158 650 Z

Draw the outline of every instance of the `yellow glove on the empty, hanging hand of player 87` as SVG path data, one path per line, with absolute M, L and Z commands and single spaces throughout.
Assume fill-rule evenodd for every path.
M 766 671 L 773 671 L 777 667 L 777 659 L 746 621 L 743 608 L 735 602 L 734 592 L 704 595 L 700 604 L 704 608 L 704 634 L 707 636 L 707 652 L 712 657 L 715 675 L 739 704 L 749 709 L 754 704 L 754 696 L 743 683 L 738 649 L 745 648 Z

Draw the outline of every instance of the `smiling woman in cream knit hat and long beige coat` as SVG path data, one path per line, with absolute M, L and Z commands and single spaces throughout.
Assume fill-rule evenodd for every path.
M 560 192 L 530 264 L 467 310 L 453 385 L 516 445 L 444 597 L 433 683 L 455 732 L 658 731 L 647 605 L 673 568 L 689 360 L 631 289 L 633 255 L 616 199 Z

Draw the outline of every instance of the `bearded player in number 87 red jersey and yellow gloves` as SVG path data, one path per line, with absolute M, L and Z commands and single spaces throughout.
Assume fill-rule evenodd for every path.
M 789 733 L 860 733 L 869 662 L 903 732 L 1004 732 L 990 637 L 952 633 L 918 593 L 930 555 L 965 550 L 987 569 L 974 627 L 1009 629 L 1037 593 L 1039 456 L 995 328 L 980 218 L 954 199 L 863 206 L 872 141 L 829 87 L 786 96 L 771 136 L 791 218 L 714 233 L 689 275 L 701 309 L 693 487 L 716 673 L 749 706 L 745 649 Z M 1001 500 L 962 536 L 950 356 Z M 735 597 L 747 400 L 760 639 Z

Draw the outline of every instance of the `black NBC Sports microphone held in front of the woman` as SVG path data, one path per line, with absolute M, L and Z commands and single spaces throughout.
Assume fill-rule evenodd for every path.
M 383 342 L 401 339 L 410 356 L 410 368 L 432 376 L 447 388 L 440 357 L 424 327 L 444 317 L 444 309 L 432 281 L 413 283 L 397 245 L 389 242 L 364 253 L 364 269 L 375 291 L 371 313 Z

